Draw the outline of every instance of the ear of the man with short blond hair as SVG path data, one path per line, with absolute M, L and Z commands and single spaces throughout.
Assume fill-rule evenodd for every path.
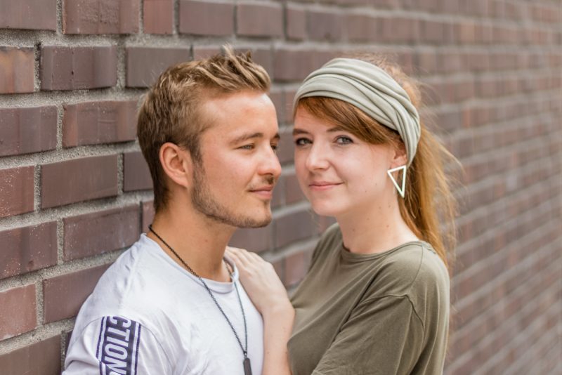
M 175 143 L 166 142 L 160 146 L 159 158 L 168 178 L 180 186 L 190 187 L 193 164 L 188 150 L 184 150 Z

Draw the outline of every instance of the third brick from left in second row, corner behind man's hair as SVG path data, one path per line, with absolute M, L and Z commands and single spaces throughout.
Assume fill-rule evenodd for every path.
M 127 87 L 148 87 L 171 65 L 190 59 L 188 48 L 126 48 Z

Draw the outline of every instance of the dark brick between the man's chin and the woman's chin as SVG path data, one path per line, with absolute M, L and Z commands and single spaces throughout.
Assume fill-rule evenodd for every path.
M 314 233 L 313 216 L 308 211 L 290 213 L 273 222 L 275 247 L 286 246 L 299 239 L 311 237 Z

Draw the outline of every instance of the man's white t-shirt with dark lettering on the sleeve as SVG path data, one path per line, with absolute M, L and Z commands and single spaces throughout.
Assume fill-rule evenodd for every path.
M 238 282 L 235 265 L 228 263 L 246 315 L 251 371 L 259 375 L 263 320 Z M 244 346 L 233 282 L 205 282 Z M 232 329 L 199 279 L 143 234 L 82 305 L 63 375 L 243 375 L 243 360 Z

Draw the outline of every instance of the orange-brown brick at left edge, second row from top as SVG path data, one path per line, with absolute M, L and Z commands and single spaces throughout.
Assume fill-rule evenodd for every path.
M 33 48 L 0 46 L 0 94 L 32 93 L 34 79 Z

